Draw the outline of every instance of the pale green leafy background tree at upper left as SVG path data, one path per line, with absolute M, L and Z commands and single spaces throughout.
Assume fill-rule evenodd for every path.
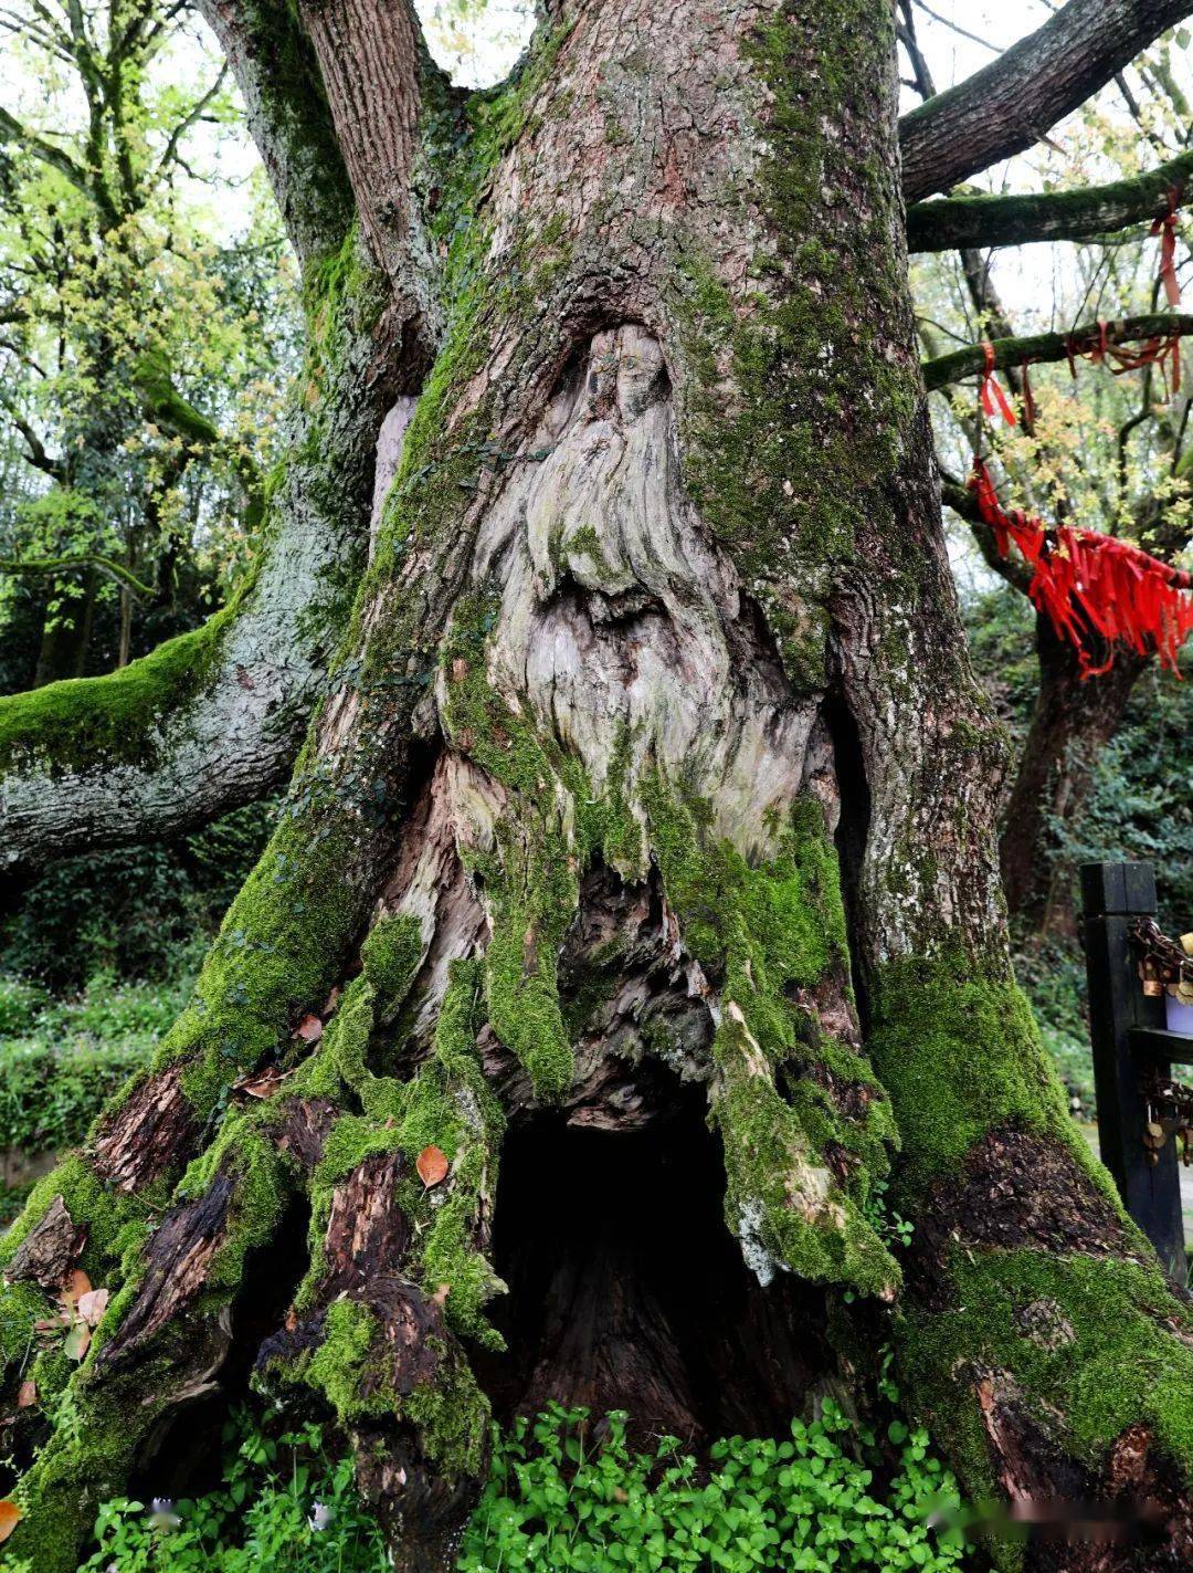
M 0 433 L 28 473 L 0 529 L 9 598 L 44 620 L 17 686 L 39 686 L 192 626 L 251 554 L 291 286 L 277 225 L 212 244 L 204 165 L 233 109 L 184 8 L 17 5 L 3 25 Z

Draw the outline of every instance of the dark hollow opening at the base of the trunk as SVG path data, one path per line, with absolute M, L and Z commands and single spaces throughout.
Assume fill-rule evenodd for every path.
M 511 1129 L 494 1241 L 509 1351 L 479 1372 L 501 1422 L 555 1398 L 701 1447 L 784 1430 L 831 1367 L 822 1293 L 787 1274 L 764 1290 L 725 1224 L 703 1089 L 673 1109 L 627 1133 Z

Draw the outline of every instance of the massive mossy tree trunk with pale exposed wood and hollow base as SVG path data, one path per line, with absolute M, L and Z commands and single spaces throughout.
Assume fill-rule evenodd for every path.
M 77 1262 L 113 1290 L 38 1357 L 11 1548 L 64 1573 L 251 1372 L 440 1570 L 490 1408 L 698 1441 L 891 1343 L 976 1497 L 1163 1509 L 1036 1565 L 1176 1568 L 1193 1339 L 1009 969 L 890 8 L 586 0 L 464 109 L 401 5 L 303 14 L 401 467 L 193 1004 L 5 1243 L 13 1380 Z

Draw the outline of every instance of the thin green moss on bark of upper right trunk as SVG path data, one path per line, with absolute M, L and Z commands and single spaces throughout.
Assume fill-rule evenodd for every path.
M 888 113 L 891 47 L 872 0 L 787 8 L 759 28 L 748 57 L 765 87 L 758 197 L 772 249 L 737 299 L 699 250 L 677 258 L 685 480 L 797 691 L 825 684 L 830 579 L 853 554 L 857 519 L 891 514 L 886 489 L 920 398 L 910 359 L 890 354 L 905 313 L 888 261 L 898 187 L 882 160 L 858 157 L 852 134 Z M 863 398 L 864 415 L 849 418 Z

